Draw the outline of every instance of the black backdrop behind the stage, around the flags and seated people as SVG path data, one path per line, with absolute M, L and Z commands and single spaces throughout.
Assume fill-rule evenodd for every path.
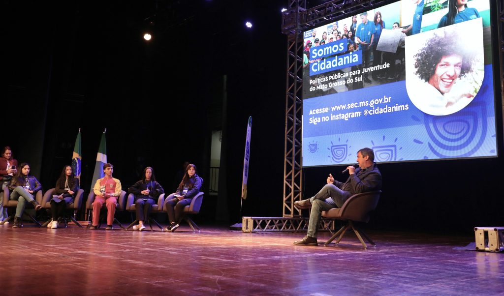
M 8 58 L 2 110 L 13 120 L 0 145 L 11 145 L 16 158 L 30 162 L 44 188 L 51 188 L 62 166 L 70 163 L 81 128 L 82 180 L 88 190 L 100 136 L 107 128 L 108 161 L 123 186 L 138 180 L 145 166 L 153 166 L 170 191 L 185 160 L 208 177 L 210 134 L 223 129 L 221 161 L 226 167 L 221 178 L 227 185 L 221 190 L 229 222 L 240 221 L 242 215 L 281 216 L 287 43 L 280 33 L 283 3 L 157 4 L 156 10 L 155 1 L 4 3 L 10 42 L 4 46 Z M 154 13 L 158 34 L 146 43 L 141 32 Z M 245 20 L 254 23 L 253 30 L 244 28 Z M 240 205 L 248 116 L 253 117 L 248 198 Z M 500 156 L 382 164 L 383 195 L 369 227 L 470 231 L 501 225 L 503 162 Z M 329 173 L 344 180 L 342 169 L 304 169 L 304 196 L 317 192 Z

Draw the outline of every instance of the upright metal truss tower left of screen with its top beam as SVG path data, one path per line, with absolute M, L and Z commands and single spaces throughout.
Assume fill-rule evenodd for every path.
M 301 217 L 301 211 L 294 207 L 294 202 L 302 198 L 302 32 L 320 22 L 354 15 L 394 1 L 333 0 L 306 9 L 306 0 L 289 0 L 289 8 L 282 15 L 282 33 L 287 35 L 283 217 Z

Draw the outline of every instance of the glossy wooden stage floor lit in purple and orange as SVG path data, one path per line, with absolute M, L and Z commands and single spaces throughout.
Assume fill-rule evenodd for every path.
M 504 294 L 504 254 L 455 251 L 474 236 L 368 231 L 338 246 L 292 244 L 304 233 L 0 227 L 6 295 Z M 319 242 L 330 237 L 324 232 Z

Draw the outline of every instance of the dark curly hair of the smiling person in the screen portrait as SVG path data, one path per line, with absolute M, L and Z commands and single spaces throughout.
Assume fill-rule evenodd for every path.
M 445 36 L 434 36 L 430 38 L 425 46 L 415 54 L 415 74 L 423 81 L 428 82 L 434 74 L 436 66 L 443 56 L 462 56 L 462 67 L 459 77 L 466 77 L 472 71 L 474 54 L 465 50 L 465 46 L 459 43 L 462 38 L 456 32 L 446 32 Z

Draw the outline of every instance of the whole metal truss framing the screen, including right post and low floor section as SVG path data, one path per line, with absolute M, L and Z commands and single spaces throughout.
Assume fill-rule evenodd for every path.
M 298 231 L 304 230 L 306 227 L 306 218 L 302 217 L 301 211 L 294 207 L 294 202 L 302 199 L 302 32 L 317 27 L 321 22 L 349 17 L 370 10 L 375 6 L 387 5 L 395 1 L 333 0 L 307 9 L 306 0 L 288 0 L 288 9 L 282 15 L 282 33 L 287 35 L 283 217 L 247 217 L 252 221 L 251 229 L 257 231 Z M 497 0 L 497 17 L 501 101 L 504 112 L 504 40 L 502 37 L 504 33 L 504 0 Z M 504 138 L 504 135 L 502 136 Z M 287 220 L 289 223 L 286 223 Z

